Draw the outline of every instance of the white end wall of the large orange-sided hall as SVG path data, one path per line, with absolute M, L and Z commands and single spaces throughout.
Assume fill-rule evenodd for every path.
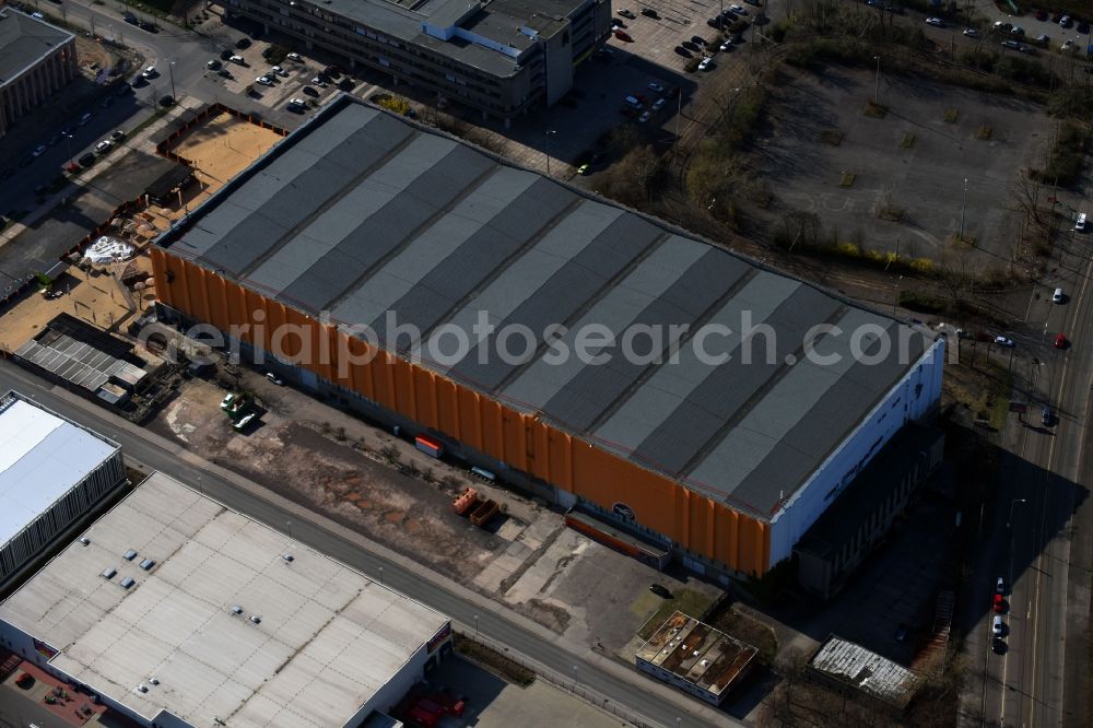
M 794 544 L 904 424 L 933 411 L 941 398 L 944 352 L 939 339 L 771 519 L 771 566 L 790 556 Z

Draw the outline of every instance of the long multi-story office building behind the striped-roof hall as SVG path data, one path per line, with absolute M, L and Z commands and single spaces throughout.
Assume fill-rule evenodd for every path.
M 550 106 L 611 33 L 610 0 L 225 0 L 350 63 L 505 119 Z

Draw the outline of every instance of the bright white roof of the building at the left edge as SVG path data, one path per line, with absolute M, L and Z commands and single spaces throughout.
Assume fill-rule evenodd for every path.
M 117 450 L 17 395 L 0 402 L 0 544 Z

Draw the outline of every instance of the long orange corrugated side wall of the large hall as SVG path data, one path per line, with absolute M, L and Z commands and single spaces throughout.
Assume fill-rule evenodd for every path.
M 766 571 L 769 525 L 385 351 L 374 352 L 367 363 L 345 363 L 340 371 L 340 359 L 360 361 L 373 350 L 160 248 L 153 247 L 151 255 L 156 293 L 166 305 L 225 330 L 251 325 L 249 332 L 237 332 L 266 348 L 278 327 L 291 325 L 303 338 L 284 337 L 287 353 L 309 350 L 314 357 L 326 352 L 325 359 L 306 365 L 325 379 L 603 508 L 625 503 L 638 522 L 691 551 L 744 573 Z

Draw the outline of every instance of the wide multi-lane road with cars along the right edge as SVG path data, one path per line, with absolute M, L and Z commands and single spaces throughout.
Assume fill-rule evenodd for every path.
M 1039 341 L 1030 344 L 1033 361 L 1014 364 L 1029 411 L 1020 419 L 1010 415 L 995 532 L 975 577 L 982 619 L 968 642 L 982 670 L 979 725 L 1072 726 L 1085 716 L 1093 564 L 1093 472 L 1085 457 L 1093 389 L 1093 239 L 1065 237 L 1057 275 L 1030 303 L 1026 322 L 1041 332 Z M 1070 296 L 1062 305 L 1050 303 L 1055 286 Z M 1058 332 L 1073 342 L 1069 349 L 1051 347 Z M 1051 427 L 1042 424 L 1044 406 L 1057 415 Z M 1008 585 L 1001 655 L 991 651 L 989 608 L 999 576 Z

